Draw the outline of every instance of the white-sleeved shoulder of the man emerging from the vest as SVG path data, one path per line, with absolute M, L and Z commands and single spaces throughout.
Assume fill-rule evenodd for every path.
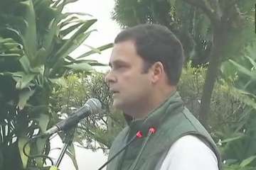
M 185 135 L 179 138 L 166 154 L 161 170 L 218 170 L 214 152 L 198 137 Z

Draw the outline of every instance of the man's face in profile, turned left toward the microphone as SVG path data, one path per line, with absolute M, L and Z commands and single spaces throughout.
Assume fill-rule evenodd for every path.
M 105 79 L 110 86 L 110 91 L 113 92 L 115 108 L 125 112 L 141 107 L 151 99 L 149 98 L 152 90 L 150 72 L 142 72 L 143 66 L 144 61 L 137 55 L 132 40 L 114 45 L 110 57 L 112 69 Z

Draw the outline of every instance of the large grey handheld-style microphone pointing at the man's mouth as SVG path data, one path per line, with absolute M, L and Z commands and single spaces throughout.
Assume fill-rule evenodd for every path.
M 52 128 L 46 130 L 43 136 L 53 135 L 53 133 L 58 132 L 60 130 L 68 130 L 72 128 L 74 125 L 78 124 L 78 122 L 87 117 L 90 114 L 99 113 L 101 111 L 102 104 L 97 98 L 90 98 L 85 106 L 79 108 L 78 111 L 75 111 L 72 115 L 70 115 L 65 120 L 61 120 L 59 123 L 54 125 Z

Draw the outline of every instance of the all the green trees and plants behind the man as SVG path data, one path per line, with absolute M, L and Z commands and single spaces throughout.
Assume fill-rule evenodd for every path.
M 85 13 L 64 13 L 73 2 L 0 1 L 0 169 L 49 169 L 46 157 L 26 157 L 23 145 L 88 98 L 99 98 L 103 112 L 75 130 L 74 141 L 82 147 L 107 154 L 126 125 L 111 108 L 105 73 L 93 69 L 103 65 L 86 58 L 112 44 L 70 57 L 96 22 L 82 20 Z M 252 0 L 115 0 L 112 12 L 122 28 L 160 23 L 181 39 L 186 64 L 178 91 L 213 136 L 223 169 L 256 167 L 254 6 Z M 50 142 L 38 139 L 26 152 L 47 155 Z M 68 152 L 78 169 L 73 145 Z

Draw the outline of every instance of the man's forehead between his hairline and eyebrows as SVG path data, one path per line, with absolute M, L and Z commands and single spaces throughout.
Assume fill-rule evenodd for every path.
M 131 60 L 142 60 L 142 58 L 137 54 L 134 41 L 127 40 L 114 44 L 112 54 L 110 56 L 110 63 L 117 60 L 122 60 L 124 62 L 129 62 Z

